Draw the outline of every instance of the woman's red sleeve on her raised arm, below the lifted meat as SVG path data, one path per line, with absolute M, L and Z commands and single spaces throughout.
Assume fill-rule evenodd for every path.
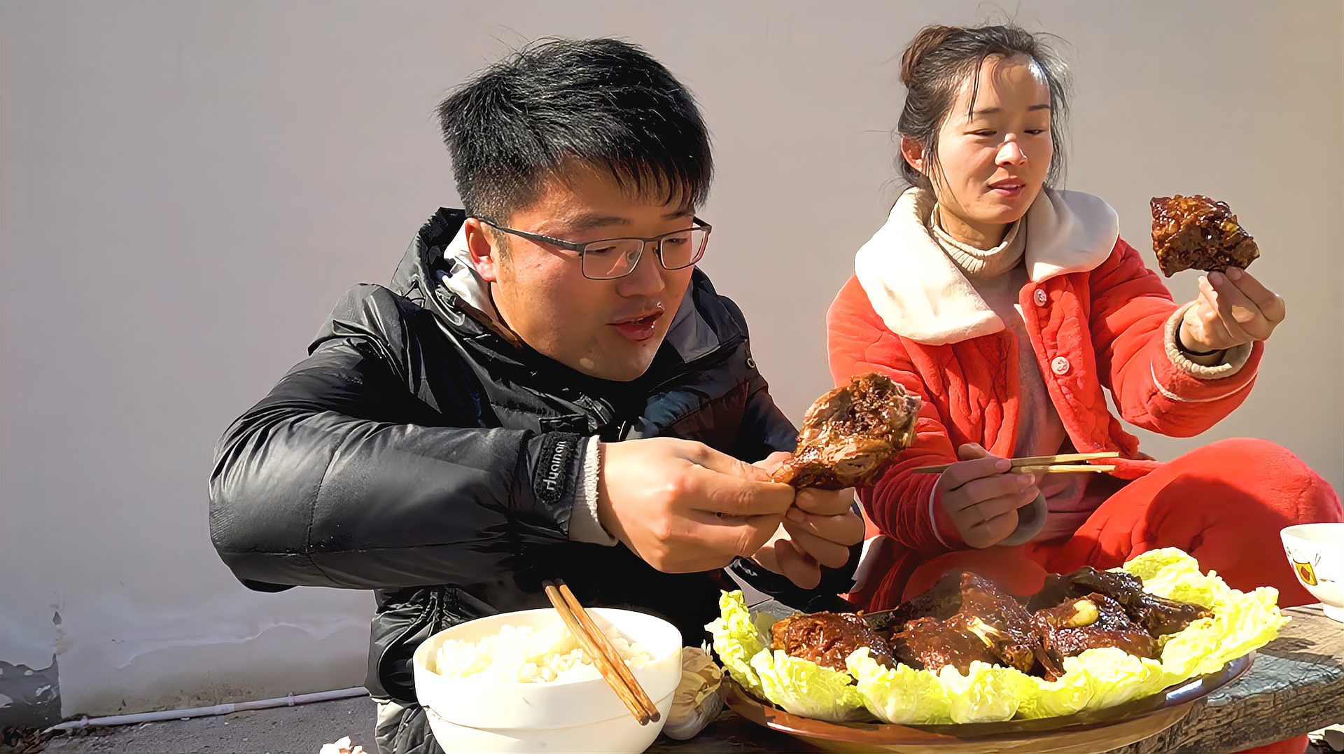
M 1202 379 L 1167 351 L 1167 325 L 1177 306 L 1157 273 L 1124 239 L 1089 277 L 1089 331 L 1097 371 L 1125 421 L 1169 437 L 1192 437 L 1246 401 L 1265 351 L 1255 343 L 1239 370 Z

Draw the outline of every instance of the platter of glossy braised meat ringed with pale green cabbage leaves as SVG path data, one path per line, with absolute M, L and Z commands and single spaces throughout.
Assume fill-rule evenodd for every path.
M 724 593 L 708 628 L 728 707 L 823 750 L 1105 751 L 1245 673 L 1286 622 L 1275 601 L 1167 548 L 1030 597 L 949 573 L 867 614 L 751 614 Z

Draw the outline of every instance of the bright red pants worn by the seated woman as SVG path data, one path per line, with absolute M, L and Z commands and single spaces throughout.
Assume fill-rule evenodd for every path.
M 1263 439 L 1224 439 L 1192 450 L 1107 499 L 1070 539 L 962 550 L 934 558 L 888 538 L 870 546 L 868 583 L 849 598 L 870 610 L 894 608 L 952 570 L 993 578 L 1016 594 L 1040 589 L 1048 573 L 1113 569 L 1159 547 L 1180 547 L 1234 589 L 1278 589 L 1281 608 L 1316 602 L 1284 555 L 1279 530 L 1340 521 L 1331 485 L 1297 456 Z M 1249 751 L 1305 751 L 1306 735 Z

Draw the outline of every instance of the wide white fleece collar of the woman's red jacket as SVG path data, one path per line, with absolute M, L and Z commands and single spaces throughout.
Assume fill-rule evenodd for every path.
M 1004 323 L 929 234 L 934 198 L 911 188 L 859 249 L 853 267 L 874 310 L 891 332 L 927 345 L 999 332 Z M 1027 271 L 1032 282 L 1097 269 L 1120 238 L 1120 218 L 1078 191 L 1043 190 L 1027 210 Z

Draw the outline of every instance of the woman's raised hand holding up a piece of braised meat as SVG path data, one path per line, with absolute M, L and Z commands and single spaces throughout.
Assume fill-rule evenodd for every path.
M 1180 345 L 1193 353 L 1226 351 L 1266 340 L 1288 309 L 1284 300 L 1250 273 L 1228 267 L 1227 274 L 1199 278 L 1199 297 L 1185 309 Z

